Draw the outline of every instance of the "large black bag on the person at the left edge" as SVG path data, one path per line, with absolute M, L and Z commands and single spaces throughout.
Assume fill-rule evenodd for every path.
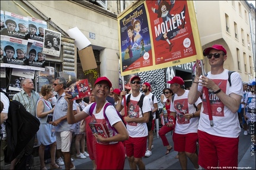
M 2 90 L 1 92 L 9 99 L 7 93 Z M 39 119 L 27 112 L 23 104 L 17 100 L 9 102 L 8 119 L 5 121 L 5 130 L 7 132 L 5 162 L 11 162 L 20 154 L 27 143 L 36 135 L 39 126 Z M 21 169 L 25 169 L 25 166 Z

